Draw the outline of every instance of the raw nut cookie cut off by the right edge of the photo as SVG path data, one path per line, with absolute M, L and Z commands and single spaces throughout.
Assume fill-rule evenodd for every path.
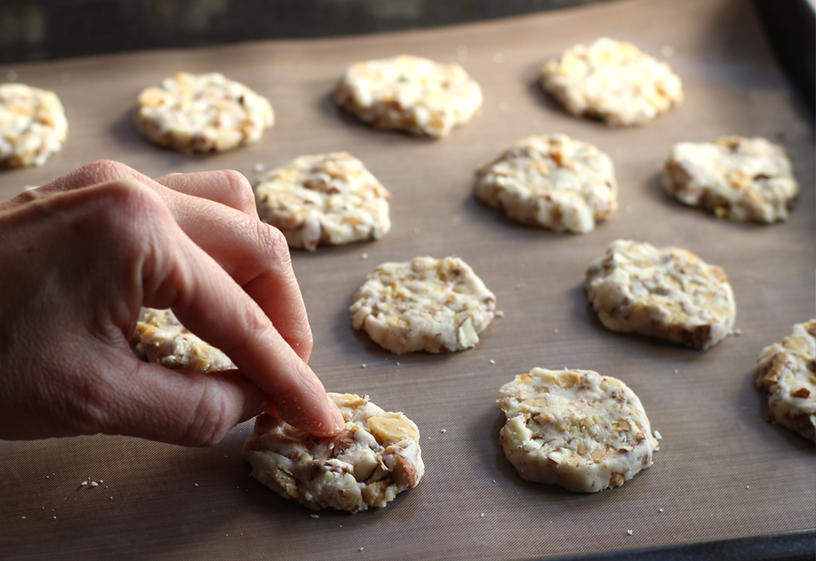
M 771 419 L 816 442 L 816 319 L 762 349 L 756 385 L 768 391 Z

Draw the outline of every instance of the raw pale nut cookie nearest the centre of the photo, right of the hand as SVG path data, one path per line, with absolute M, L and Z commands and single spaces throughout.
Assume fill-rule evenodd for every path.
M 354 329 L 397 354 L 469 349 L 493 319 L 496 297 L 458 257 L 383 263 L 351 306 Z

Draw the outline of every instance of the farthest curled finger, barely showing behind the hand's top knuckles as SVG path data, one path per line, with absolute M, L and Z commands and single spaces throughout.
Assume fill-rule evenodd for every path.
M 156 178 L 156 182 L 178 193 L 209 199 L 258 218 L 252 186 L 237 171 L 171 173 Z

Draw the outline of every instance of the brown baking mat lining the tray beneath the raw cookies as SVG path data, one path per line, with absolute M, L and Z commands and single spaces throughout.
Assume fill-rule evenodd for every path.
M 685 103 L 633 129 L 565 114 L 540 91 L 538 69 L 601 35 L 665 58 L 683 79 Z M 484 89 L 475 121 L 431 141 L 370 130 L 336 109 L 330 91 L 348 64 L 402 52 L 462 62 Z M 130 123 L 135 98 L 178 70 L 220 70 L 248 84 L 271 99 L 277 124 L 258 145 L 226 154 L 186 157 L 150 145 Z M 393 194 L 394 226 L 378 242 L 293 252 L 314 331 L 311 362 L 330 390 L 367 393 L 415 420 L 427 469 L 387 508 L 312 518 L 249 477 L 240 450 L 250 424 L 209 449 L 111 436 L 0 442 L 0 556 L 532 559 L 648 550 L 682 558 L 695 544 L 734 539 L 727 543 L 749 550 L 783 540 L 808 553 L 816 453 L 766 422 L 752 372 L 759 351 L 816 308 L 813 130 L 749 2 L 627 0 L 390 35 L 4 66 L 0 75 L 10 71 L 57 91 L 71 130 L 46 166 L 0 174 L 2 199 L 98 158 L 151 176 L 233 168 L 251 179 L 256 164 L 301 154 L 361 158 Z M 474 170 L 513 141 L 550 132 L 589 141 L 615 161 L 620 210 L 592 233 L 525 227 L 472 197 Z M 788 222 L 719 221 L 660 191 L 675 142 L 724 134 L 762 135 L 788 149 L 802 185 Z M 699 352 L 605 330 L 582 279 L 618 238 L 679 245 L 722 266 L 742 335 Z M 505 317 L 474 349 L 395 356 L 352 331 L 348 306 L 366 274 L 421 254 L 463 257 L 496 293 Z M 521 480 L 499 447 L 494 400 L 534 366 L 624 380 L 663 435 L 655 465 L 591 495 Z

